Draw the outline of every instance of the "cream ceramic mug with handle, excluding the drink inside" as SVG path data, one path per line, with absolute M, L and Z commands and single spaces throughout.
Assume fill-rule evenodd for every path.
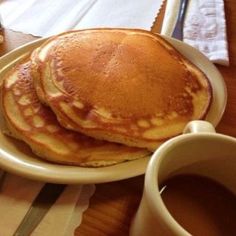
M 236 194 L 236 139 L 216 133 L 206 121 L 192 121 L 183 135 L 161 145 L 148 163 L 130 236 L 190 235 L 168 212 L 159 192 L 165 180 L 179 174 L 209 177 Z

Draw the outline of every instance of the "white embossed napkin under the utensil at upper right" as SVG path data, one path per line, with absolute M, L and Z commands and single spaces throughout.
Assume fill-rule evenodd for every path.
M 161 34 L 171 36 L 180 0 L 168 0 Z M 199 49 L 212 62 L 229 65 L 223 0 L 189 0 L 183 41 Z

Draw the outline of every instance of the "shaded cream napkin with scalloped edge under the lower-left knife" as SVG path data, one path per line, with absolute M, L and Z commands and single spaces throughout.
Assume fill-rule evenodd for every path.
M 0 192 L 1 235 L 12 236 L 44 183 L 7 174 Z M 94 185 L 68 185 L 32 236 L 73 236 L 95 191 Z

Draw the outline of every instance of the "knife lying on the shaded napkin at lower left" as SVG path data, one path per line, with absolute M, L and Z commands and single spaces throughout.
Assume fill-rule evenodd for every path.
M 56 202 L 65 186 L 63 184 L 46 183 L 34 199 L 13 236 L 29 236 Z

